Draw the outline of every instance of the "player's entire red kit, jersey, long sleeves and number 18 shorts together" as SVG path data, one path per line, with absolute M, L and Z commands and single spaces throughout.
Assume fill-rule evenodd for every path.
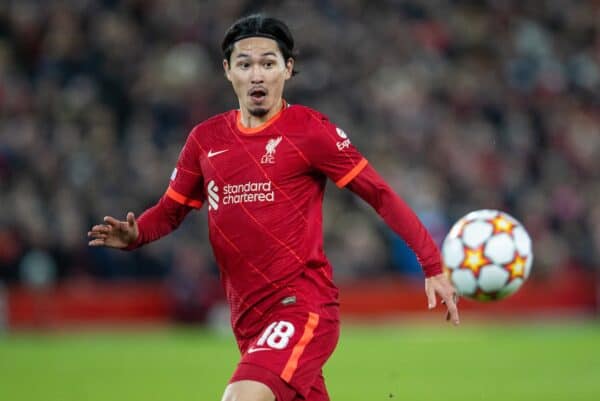
M 338 290 L 323 251 L 327 179 L 368 202 L 415 251 L 440 255 L 410 207 L 322 114 L 287 106 L 248 129 L 230 111 L 189 134 L 165 196 L 138 219 L 128 249 L 176 229 L 207 204 L 209 237 L 242 354 L 232 381 L 258 380 L 278 401 L 328 400 L 322 367 L 339 336 Z

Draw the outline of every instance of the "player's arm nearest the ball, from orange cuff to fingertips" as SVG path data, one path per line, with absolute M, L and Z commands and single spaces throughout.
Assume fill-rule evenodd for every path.
M 440 252 L 431 235 L 412 209 L 370 165 L 365 166 L 346 187 L 369 203 L 386 224 L 415 252 L 425 272 L 425 292 L 429 309 L 442 298 L 447 320 L 459 323 L 456 290 L 442 272 Z

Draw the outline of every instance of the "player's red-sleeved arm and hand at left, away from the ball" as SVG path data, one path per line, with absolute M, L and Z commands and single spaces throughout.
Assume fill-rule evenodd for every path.
M 200 149 L 192 131 L 179 154 L 177 167 L 164 196 L 136 220 L 132 212 L 125 221 L 104 217 L 88 232 L 90 246 L 135 249 L 171 233 L 192 209 L 202 207 L 203 177 Z

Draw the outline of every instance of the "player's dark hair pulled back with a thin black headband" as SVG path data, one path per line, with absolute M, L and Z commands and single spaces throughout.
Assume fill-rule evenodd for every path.
M 221 43 L 223 58 L 227 62 L 231 62 L 231 53 L 235 42 L 257 36 L 276 41 L 286 63 L 290 58 L 296 59 L 294 38 L 285 22 L 262 14 L 242 17 L 227 29 Z M 296 73 L 296 70 L 292 71 L 292 75 L 296 75 Z

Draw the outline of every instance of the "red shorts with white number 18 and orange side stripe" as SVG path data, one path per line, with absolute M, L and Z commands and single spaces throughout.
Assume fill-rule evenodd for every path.
M 230 382 L 259 381 L 277 401 L 329 401 L 322 368 L 337 345 L 339 321 L 283 307 L 264 323 L 256 337 L 238 342 L 242 359 Z

